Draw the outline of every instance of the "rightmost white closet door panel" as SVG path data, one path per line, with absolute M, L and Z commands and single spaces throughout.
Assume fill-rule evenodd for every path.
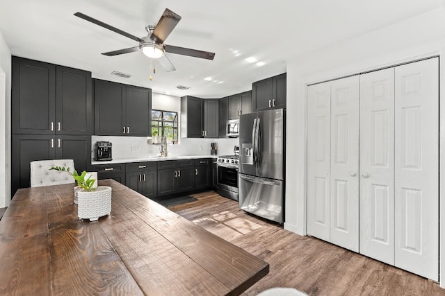
M 439 66 L 396 67 L 395 265 L 438 280 Z

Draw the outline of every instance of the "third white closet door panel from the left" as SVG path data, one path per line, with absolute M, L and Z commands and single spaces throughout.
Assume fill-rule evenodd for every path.
M 394 265 L 394 68 L 360 76 L 360 253 Z

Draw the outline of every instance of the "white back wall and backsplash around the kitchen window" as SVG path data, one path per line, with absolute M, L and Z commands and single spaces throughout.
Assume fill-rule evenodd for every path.
M 152 93 L 152 109 L 176 111 L 178 116 L 181 116 L 181 98 Z M 179 118 L 180 124 L 181 119 Z M 113 159 L 134 159 L 159 155 L 159 145 L 148 143 L 147 137 L 92 136 L 91 150 L 97 141 L 113 143 Z M 238 145 L 238 139 L 188 139 L 181 138 L 179 135 L 179 144 L 168 144 L 168 152 L 171 156 L 210 155 L 210 143 L 217 143 L 218 155 L 233 155 L 234 146 Z

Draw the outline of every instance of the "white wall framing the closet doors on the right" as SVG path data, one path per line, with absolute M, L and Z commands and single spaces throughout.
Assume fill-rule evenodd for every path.
M 381 28 L 366 35 L 346 40 L 330 48 L 288 62 L 287 64 L 287 138 L 286 138 L 286 222 L 284 228 L 297 234 L 306 234 L 306 132 L 307 85 L 332 78 L 387 67 L 432 55 L 445 50 L 445 10 L 439 8 L 422 15 Z M 442 57 L 441 57 L 442 58 Z M 445 66 L 439 65 L 439 87 L 444 89 Z M 440 92 L 441 98 L 444 92 Z M 439 98 L 439 101 L 442 99 Z M 445 97 L 444 97 L 445 98 Z M 439 128 L 445 129 L 444 104 L 440 105 Z M 439 171 L 445 169 L 445 137 L 439 135 Z M 442 187 L 445 174 L 440 175 L 439 200 L 443 200 Z M 441 202 L 440 254 L 445 255 L 445 202 Z M 437 209 L 431 209 L 437 211 Z M 444 274 L 445 261 L 440 261 Z M 445 281 L 441 281 L 445 288 Z

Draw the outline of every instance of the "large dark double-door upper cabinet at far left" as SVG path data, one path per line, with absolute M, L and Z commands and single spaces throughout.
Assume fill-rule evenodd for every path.
M 13 134 L 92 134 L 91 73 L 13 57 Z

